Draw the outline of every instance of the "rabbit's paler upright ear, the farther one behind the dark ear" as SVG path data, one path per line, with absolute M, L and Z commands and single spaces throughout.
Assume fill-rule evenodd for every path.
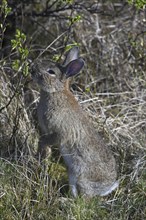
M 68 65 L 72 60 L 78 59 L 78 57 L 79 57 L 79 48 L 78 47 L 71 48 L 66 55 L 66 58 L 63 62 L 63 66 Z

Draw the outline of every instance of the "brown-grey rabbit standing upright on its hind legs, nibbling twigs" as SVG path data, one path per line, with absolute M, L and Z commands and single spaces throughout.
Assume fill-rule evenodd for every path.
M 34 63 L 32 78 L 40 86 L 37 110 L 43 132 L 38 152 L 45 152 L 47 145 L 59 146 L 74 197 L 106 196 L 119 185 L 115 158 L 69 89 L 70 78 L 83 66 L 78 47 L 69 50 L 62 65 Z

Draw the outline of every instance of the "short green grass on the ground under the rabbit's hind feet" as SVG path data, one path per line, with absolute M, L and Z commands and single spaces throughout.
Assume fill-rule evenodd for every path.
M 67 176 L 64 167 L 49 161 L 45 166 L 0 161 L 0 219 L 33 220 L 141 220 L 146 217 L 146 173 L 137 180 L 132 174 L 110 196 L 72 198 L 68 189 L 60 192 Z M 54 175 L 51 175 L 54 170 Z

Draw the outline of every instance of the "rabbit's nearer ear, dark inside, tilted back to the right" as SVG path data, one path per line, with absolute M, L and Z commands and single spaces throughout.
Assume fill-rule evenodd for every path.
M 80 72 L 80 70 L 84 66 L 84 60 L 82 58 L 72 60 L 66 67 L 65 67 L 65 75 L 66 78 L 74 76 Z

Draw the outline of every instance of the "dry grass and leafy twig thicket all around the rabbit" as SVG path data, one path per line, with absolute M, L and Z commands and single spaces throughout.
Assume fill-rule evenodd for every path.
M 0 219 L 146 218 L 145 0 L 2 0 L 0 5 Z M 120 187 L 74 199 L 59 150 L 35 159 L 39 88 L 29 63 L 78 45 L 85 68 L 71 85 L 112 148 Z

